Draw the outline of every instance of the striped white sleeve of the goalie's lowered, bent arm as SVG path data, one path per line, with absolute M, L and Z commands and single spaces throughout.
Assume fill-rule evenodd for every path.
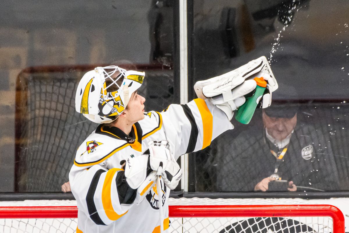
M 97 225 L 111 224 L 133 206 L 119 202 L 116 176 L 120 171 L 123 170 L 108 170 L 101 165 L 86 169 L 73 165 L 70 170 L 70 187 L 77 206 Z

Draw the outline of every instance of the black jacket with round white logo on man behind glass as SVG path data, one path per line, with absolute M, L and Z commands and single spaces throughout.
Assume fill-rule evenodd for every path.
M 276 158 L 270 150 L 277 152 L 277 147 L 270 144 L 262 125 L 241 131 L 235 138 L 233 133 L 225 132 L 210 147 L 203 170 L 209 170 L 212 191 L 253 191 L 258 182 L 274 173 Z M 297 124 L 278 172 L 282 180 L 293 181 L 297 186 L 339 189 L 328 140 L 320 130 L 305 124 Z M 309 188 L 298 187 L 297 191 L 312 191 Z

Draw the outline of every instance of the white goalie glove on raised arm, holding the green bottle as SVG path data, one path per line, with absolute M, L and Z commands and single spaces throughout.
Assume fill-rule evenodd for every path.
M 229 121 L 233 111 L 245 103 L 244 95 L 253 92 L 257 83 L 255 77 L 263 77 L 267 88 L 261 98 L 261 107 L 267 108 L 272 102 L 272 92 L 277 88 L 277 82 L 266 57 L 260 57 L 239 68 L 220 76 L 198 81 L 194 85 L 196 95 L 209 101 L 227 115 Z

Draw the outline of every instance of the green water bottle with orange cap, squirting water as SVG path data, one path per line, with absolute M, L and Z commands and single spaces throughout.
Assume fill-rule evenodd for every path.
M 263 77 L 256 77 L 253 80 L 257 82 L 253 96 L 246 98 L 246 102 L 239 107 L 235 115 L 235 119 L 245 125 L 250 123 L 254 110 L 256 110 L 256 107 L 267 87 L 267 82 L 263 79 Z

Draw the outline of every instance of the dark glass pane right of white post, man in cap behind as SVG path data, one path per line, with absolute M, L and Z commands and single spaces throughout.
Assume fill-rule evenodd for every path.
M 195 153 L 191 190 L 261 191 L 269 176 L 297 191 L 348 190 L 348 10 L 344 0 L 193 1 L 194 81 L 266 56 L 279 89 L 269 114 L 233 119 L 234 130 Z M 277 165 L 271 151 L 284 148 Z

